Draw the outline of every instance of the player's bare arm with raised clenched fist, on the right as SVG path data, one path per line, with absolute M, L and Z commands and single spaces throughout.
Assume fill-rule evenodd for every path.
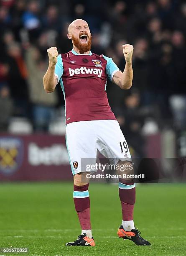
M 130 44 L 124 44 L 123 54 L 125 57 L 125 69 L 123 72 L 118 70 L 112 77 L 112 82 L 117 84 L 121 89 L 128 90 L 132 86 L 133 70 L 132 70 L 132 53 L 134 47 Z

